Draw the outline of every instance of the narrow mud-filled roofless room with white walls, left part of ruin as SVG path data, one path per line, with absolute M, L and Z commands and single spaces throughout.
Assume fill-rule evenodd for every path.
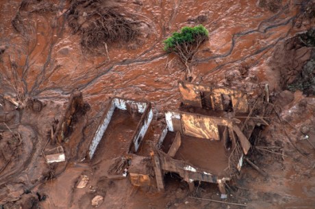
M 104 141 L 101 152 L 105 153 L 105 157 L 137 152 L 152 119 L 150 102 L 112 98 L 92 139 L 88 156 L 92 159 L 101 139 Z M 108 128 L 110 124 L 112 128 Z

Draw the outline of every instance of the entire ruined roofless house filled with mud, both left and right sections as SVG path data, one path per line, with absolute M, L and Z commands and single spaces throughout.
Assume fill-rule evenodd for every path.
M 177 173 L 190 190 L 194 182 L 210 182 L 225 195 L 225 182 L 238 175 L 251 148 L 253 129 L 268 124 L 250 107 L 246 92 L 182 81 L 179 92 L 181 106 L 165 113 L 166 126 L 150 156 L 139 156 L 137 151 L 153 119 L 151 104 L 123 98 L 113 98 L 105 109 L 88 155 L 92 159 L 100 150 L 102 158 L 116 158 L 112 168 L 128 167 L 134 186 L 162 191 L 165 174 Z

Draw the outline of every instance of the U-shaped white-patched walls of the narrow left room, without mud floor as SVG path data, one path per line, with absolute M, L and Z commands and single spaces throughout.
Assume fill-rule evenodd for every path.
M 95 150 L 97 149 L 97 145 L 99 145 L 99 141 L 101 141 L 106 128 L 108 128 L 108 124 L 110 124 L 110 120 L 112 119 L 115 108 L 126 111 L 129 111 L 130 109 L 136 109 L 138 113 L 142 113 L 142 117 L 131 141 L 131 143 L 134 143 L 135 150 L 138 150 L 145 133 L 147 133 L 147 129 L 149 128 L 149 124 L 153 118 L 151 104 L 149 102 L 127 100 L 124 98 L 113 98 L 110 101 L 110 104 L 108 104 L 108 107 L 105 109 L 99 128 L 97 128 L 95 136 L 92 139 L 92 143 L 88 152 L 90 158 L 93 157 Z M 127 152 L 129 152 L 129 150 L 127 150 Z

